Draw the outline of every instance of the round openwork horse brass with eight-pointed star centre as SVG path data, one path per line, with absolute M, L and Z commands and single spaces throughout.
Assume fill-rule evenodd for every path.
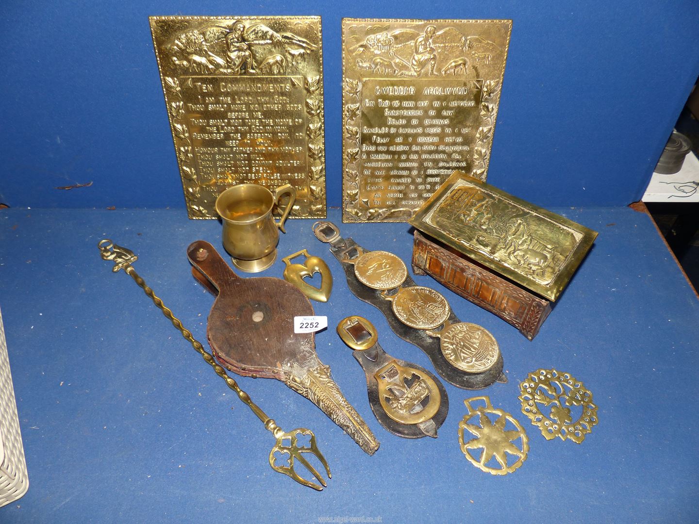
M 473 402 L 485 405 L 473 407 Z M 468 462 L 493 475 L 517 470 L 529 452 L 528 437 L 517 419 L 494 408 L 488 397 L 469 398 L 463 403 L 468 413 L 459 422 L 459 444 Z

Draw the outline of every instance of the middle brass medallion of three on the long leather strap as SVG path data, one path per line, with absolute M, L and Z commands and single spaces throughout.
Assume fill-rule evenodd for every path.
M 415 329 L 432 329 L 449 318 L 449 303 L 442 293 L 423 286 L 410 286 L 395 295 L 382 294 L 391 300 L 396 318 Z

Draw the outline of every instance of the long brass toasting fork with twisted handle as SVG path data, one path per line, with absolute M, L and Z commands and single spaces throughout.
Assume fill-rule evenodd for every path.
M 303 484 L 303 486 L 308 486 L 309 488 L 313 488 L 318 491 L 321 491 L 323 489 L 322 486 L 327 486 L 326 481 L 317 472 L 315 467 L 313 467 L 308 462 L 308 460 L 306 460 L 302 455 L 302 453 L 311 453 L 312 455 L 316 456 L 318 460 L 320 460 L 322 465 L 325 467 L 325 471 L 328 474 L 328 478 L 331 478 L 332 475 L 330 474 L 330 467 L 328 466 L 325 457 L 318 449 L 317 443 L 315 441 L 315 435 L 313 435 L 313 432 L 306 428 L 296 428 L 295 430 L 284 431 L 275 423 L 275 421 L 273 421 L 273 419 L 270 419 L 257 404 L 252 402 L 252 400 L 250 399 L 250 395 L 248 395 L 247 393 L 245 393 L 245 391 L 240 389 L 238 383 L 231 377 L 229 377 L 229 375 L 226 373 L 226 370 L 224 370 L 224 368 L 221 365 L 216 363 L 212 354 L 208 353 L 208 351 L 204 349 L 204 347 L 201 345 L 201 342 L 198 342 L 194 339 L 194 337 L 192 336 L 192 332 L 190 332 L 184 326 L 182 326 L 182 322 L 180 321 L 180 319 L 173 315 L 173 312 L 171 312 L 171 310 L 163 304 L 163 301 L 160 298 L 158 298 L 155 295 L 155 293 L 153 293 L 153 290 L 145 284 L 145 280 L 143 280 L 143 278 L 141 278 L 138 275 L 138 273 L 134 269 L 134 266 L 131 265 L 131 263 L 134 263 L 138 259 L 134 252 L 125 247 L 118 246 L 114 244 L 111 240 L 108 240 L 106 238 L 101 240 L 97 246 L 99 247 L 100 254 L 104 260 L 110 260 L 114 262 L 114 267 L 112 268 L 112 271 L 119 272 L 120 269 L 123 269 L 127 273 L 127 275 L 134 279 L 134 282 L 136 282 L 136 284 L 138 284 L 138 286 L 140 286 L 140 288 L 143 289 L 143 292 L 147 296 L 149 296 L 153 303 L 157 305 L 157 307 L 159 307 L 159 309 L 163 312 L 163 314 L 168 319 L 170 319 L 170 321 L 173 323 L 173 326 L 175 326 L 175 328 L 178 328 L 180 333 L 182 333 L 182 337 L 185 337 L 185 339 L 190 344 L 192 344 L 192 347 L 199 354 L 201 354 L 206 363 L 213 367 L 216 374 L 222 379 L 224 379 L 224 381 L 226 381 L 228 387 L 236 392 L 238 398 L 240 398 L 240 400 L 245 402 L 245 404 L 247 404 L 247 406 L 250 407 L 250 409 L 252 409 L 252 412 L 257 415 L 257 418 L 264 423 L 264 427 L 267 430 L 271 431 L 272 434 L 276 437 L 277 443 L 269 452 L 269 465 L 271 465 L 272 469 L 290 476 L 296 482 Z M 309 437 L 308 444 L 299 446 L 298 440 L 303 439 L 304 436 Z M 279 453 L 279 455 L 277 455 L 277 453 Z M 284 458 L 284 454 L 287 454 L 289 457 Z M 282 465 L 277 465 L 277 460 L 284 460 L 286 463 Z M 319 483 L 322 484 L 322 486 L 319 486 L 316 483 L 303 479 L 303 477 L 301 477 L 296 472 L 296 470 L 294 470 L 294 463 L 296 462 L 296 460 L 298 460 L 298 462 L 300 462 L 304 467 L 306 467 L 313 474 L 313 476 L 315 476 Z

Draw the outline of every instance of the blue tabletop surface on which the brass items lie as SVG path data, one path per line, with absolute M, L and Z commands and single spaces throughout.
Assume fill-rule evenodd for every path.
M 278 381 L 236 379 L 282 428 L 315 431 L 333 472 L 323 493 L 269 468 L 272 435 L 96 247 L 109 236 L 134 249 L 136 270 L 206 344 L 213 298 L 192 278 L 185 248 L 198 238 L 219 247 L 216 221 L 187 220 L 181 210 L 0 213 L 0 299 L 30 479 L 27 495 L 0 509 L 0 522 L 696 521 L 699 302 L 644 214 L 554 211 L 600 235 L 533 342 L 415 277 L 445 293 L 461 320 L 496 336 L 509 379 L 482 391 L 445 383 L 449 415 L 436 440 L 401 439 L 377 423 L 363 372 L 334 333 L 338 321 L 366 316 L 390 354 L 433 367 L 352 296 L 312 221 L 289 222 L 282 256 L 306 247 L 335 277 L 331 300 L 314 303 L 329 317 L 318 355 L 381 447 L 367 456 Z M 331 220 L 339 217 L 331 210 Z M 342 231 L 410 259 L 405 224 Z M 277 261 L 261 275 L 282 269 Z M 547 442 L 519 411 L 519 382 L 538 367 L 570 372 L 593 392 L 600 423 L 582 444 Z M 489 395 L 528 432 L 531 451 L 513 474 L 480 472 L 459 450 L 463 399 L 476 395 Z

